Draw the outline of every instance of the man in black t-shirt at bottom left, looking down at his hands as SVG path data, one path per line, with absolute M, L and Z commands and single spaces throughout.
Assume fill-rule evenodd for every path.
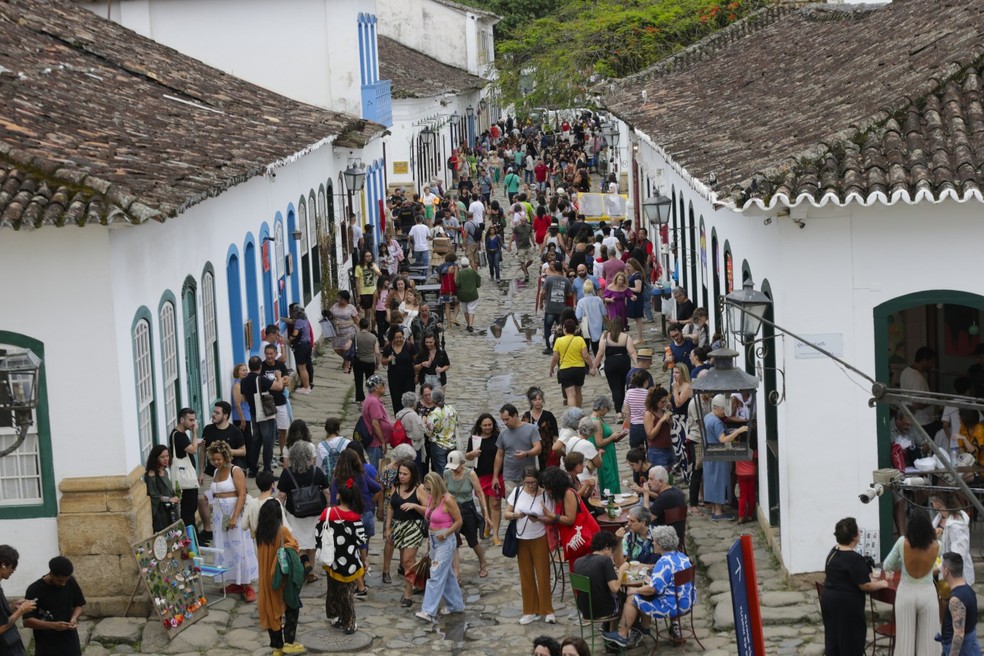
M 24 598 L 37 600 L 24 616 L 24 626 L 34 631 L 35 656 L 82 656 L 79 616 L 85 597 L 74 569 L 68 558 L 55 556 L 48 561 L 48 573 L 27 588 Z

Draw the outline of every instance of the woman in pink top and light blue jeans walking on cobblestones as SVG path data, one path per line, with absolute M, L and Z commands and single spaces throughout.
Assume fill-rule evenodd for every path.
M 455 533 L 461 528 L 461 511 L 454 497 L 448 494 L 444 479 L 436 472 L 424 476 L 422 506 L 416 509 L 424 513 L 430 523 L 431 575 L 427 579 L 424 601 L 417 617 L 427 622 L 437 620 L 437 609 L 444 599 L 442 615 L 460 613 L 465 609 L 465 600 L 458 587 L 451 562 L 458 547 Z

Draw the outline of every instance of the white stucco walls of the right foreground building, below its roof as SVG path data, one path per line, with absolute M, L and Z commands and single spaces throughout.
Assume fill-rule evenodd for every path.
M 683 194 L 685 205 L 693 202 L 698 239 L 703 216 L 709 295 L 713 296 L 711 236 L 716 229 L 722 294 L 727 240 L 735 288 L 741 287 L 742 262 L 747 260 L 756 288 L 766 279 L 771 285 L 777 324 L 805 338 L 842 335 L 843 359 L 871 376 L 877 374 L 873 323 L 877 305 L 933 289 L 979 293 L 973 276 L 955 275 L 961 270 L 950 264 L 977 257 L 976 242 L 967 239 L 967 226 L 979 218 L 981 208 L 976 204 L 796 208 L 792 218 L 805 223 L 800 229 L 789 216 L 745 216 L 713 209 L 690 186 L 685 172 L 668 166 L 645 139 L 638 160 L 643 180 L 646 173 L 657 177 L 662 172 L 664 194 L 675 190 L 678 198 Z M 766 218 L 772 218 L 769 225 L 764 224 Z M 927 238 L 930 219 L 931 239 Z M 676 238 L 679 242 L 679 235 Z M 699 262 L 699 251 L 696 255 Z M 690 289 L 689 272 L 685 284 L 700 305 L 703 275 L 698 277 L 698 289 Z M 713 322 L 713 312 L 711 316 Z M 782 557 L 791 573 L 818 571 L 823 569 L 837 520 L 854 516 L 862 528 L 879 528 L 877 504 L 858 500 L 877 468 L 876 413 L 868 407 L 870 386 L 865 381 L 845 374 L 827 358 L 797 359 L 789 337 L 775 344 L 786 385 L 786 400 L 777 408 Z M 766 489 L 764 396 L 761 393 L 758 399 L 762 445 L 758 485 L 760 506 L 767 514 L 769 497 L 776 491 Z

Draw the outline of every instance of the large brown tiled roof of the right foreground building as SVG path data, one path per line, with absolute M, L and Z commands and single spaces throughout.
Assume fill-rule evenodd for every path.
M 738 207 L 980 198 L 982 75 L 978 0 L 775 7 L 614 84 L 608 106 Z

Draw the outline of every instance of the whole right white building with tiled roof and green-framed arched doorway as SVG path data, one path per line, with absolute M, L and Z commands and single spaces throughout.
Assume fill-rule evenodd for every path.
M 751 279 L 768 318 L 878 381 L 930 346 L 929 384 L 953 392 L 984 319 L 982 35 L 975 0 L 779 6 L 608 89 L 639 197 L 672 199 L 671 269 L 713 330 L 717 299 Z M 858 493 L 889 466 L 888 409 L 829 358 L 764 336 L 743 358 L 763 381 L 759 517 L 784 567 L 822 570 L 846 516 L 884 557 L 891 500 Z

